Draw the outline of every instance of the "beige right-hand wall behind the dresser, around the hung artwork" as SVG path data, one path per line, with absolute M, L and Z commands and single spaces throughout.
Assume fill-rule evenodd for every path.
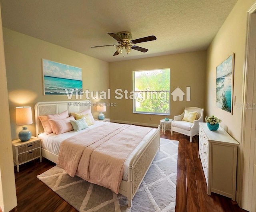
M 255 0 L 238 0 L 232 12 L 218 31 L 207 51 L 207 72 L 206 72 L 206 115 L 216 115 L 222 120 L 222 126 L 234 139 L 241 144 L 242 127 L 242 87 L 244 75 L 244 55 L 246 44 L 246 21 L 247 11 L 254 4 Z M 216 67 L 228 56 L 235 53 L 234 62 L 234 96 L 236 104 L 233 108 L 233 115 L 216 107 Z M 238 147 L 238 162 L 240 161 L 240 147 Z M 241 166 L 238 163 L 238 178 L 241 180 Z M 242 195 L 237 185 L 238 195 Z M 237 200 L 240 196 L 237 196 Z

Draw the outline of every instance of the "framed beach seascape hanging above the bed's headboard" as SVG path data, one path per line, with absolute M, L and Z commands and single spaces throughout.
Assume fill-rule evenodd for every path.
M 82 68 L 43 59 L 44 95 L 82 92 Z

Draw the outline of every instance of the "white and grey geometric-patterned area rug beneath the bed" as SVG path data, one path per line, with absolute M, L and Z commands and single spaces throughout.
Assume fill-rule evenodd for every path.
M 77 176 L 72 178 L 57 166 L 37 178 L 79 212 L 174 212 L 178 145 L 176 140 L 160 138 L 160 151 L 132 199 L 132 207 L 121 194 Z

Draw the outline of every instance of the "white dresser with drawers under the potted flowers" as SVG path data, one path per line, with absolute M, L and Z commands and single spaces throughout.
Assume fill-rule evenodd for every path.
M 199 123 L 199 126 L 198 157 L 204 170 L 207 194 L 214 192 L 235 201 L 237 146 L 240 144 L 221 127 L 210 131 L 206 123 Z

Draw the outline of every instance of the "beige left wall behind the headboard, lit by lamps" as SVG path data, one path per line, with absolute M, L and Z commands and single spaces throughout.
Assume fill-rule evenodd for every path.
M 43 101 L 68 101 L 67 96 L 43 95 L 42 58 L 82 68 L 83 90 L 106 91 L 109 88 L 108 62 L 62 48 L 60 46 L 32 38 L 30 36 L 3 28 L 6 74 L 10 106 L 12 140 L 17 139 L 21 126 L 16 126 L 15 107 L 34 106 Z M 75 97 L 72 100 L 76 100 Z M 86 100 L 86 96 L 82 96 Z M 108 100 L 91 100 L 108 102 Z M 92 107 L 92 114 L 97 118 L 98 112 Z M 110 110 L 104 112 L 110 116 Z M 34 114 L 33 114 L 34 119 Z M 35 135 L 35 121 L 28 125 Z

